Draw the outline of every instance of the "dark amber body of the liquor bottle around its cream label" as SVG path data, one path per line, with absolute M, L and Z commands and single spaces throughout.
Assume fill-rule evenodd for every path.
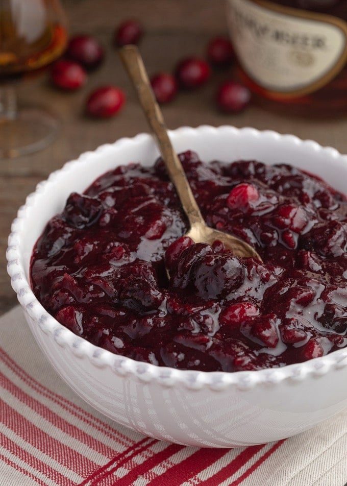
M 329 15 L 346 22 L 347 0 L 276 0 L 267 2 L 297 11 Z M 265 4 L 264 4 L 265 5 Z M 336 117 L 347 115 L 347 64 L 323 87 L 301 96 L 287 96 L 278 91 L 266 89 L 252 80 L 241 68 L 241 80 L 251 88 L 258 104 L 276 111 L 291 112 L 301 116 Z

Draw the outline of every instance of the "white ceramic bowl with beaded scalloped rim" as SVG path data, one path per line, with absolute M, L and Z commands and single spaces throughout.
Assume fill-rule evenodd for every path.
M 340 191 L 347 156 L 292 135 L 223 126 L 170 132 L 178 152 L 204 161 L 257 159 L 289 163 Z M 119 164 L 153 164 L 153 138 L 122 138 L 68 162 L 38 184 L 18 211 L 7 251 L 8 272 L 29 326 L 58 374 L 85 401 L 116 422 L 156 439 L 203 447 L 261 444 L 303 432 L 347 405 L 347 348 L 277 369 L 236 373 L 182 371 L 117 356 L 73 334 L 49 315 L 29 284 L 33 246 L 71 191 L 83 191 Z

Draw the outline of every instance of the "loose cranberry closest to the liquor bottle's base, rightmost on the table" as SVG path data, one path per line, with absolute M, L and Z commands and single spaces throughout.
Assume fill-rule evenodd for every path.
M 238 113 L 244 110 L 250 101 L 251 91 L 235 81 L 227 81 L 217 90 L 217 106 L 225 113 Z

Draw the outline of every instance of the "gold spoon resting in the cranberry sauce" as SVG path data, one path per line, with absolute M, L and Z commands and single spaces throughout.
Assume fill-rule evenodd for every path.
M 195 243 L 206 242 L 210 245 L 218 240 L 227 249 L 231 249 L 234 255 L 238 257 L 255 257 L 261 261 L 258 253 L 245 241 L 206 225 L 193 196 L 181 161 L 168 137 L 163 115 L 155 100 L 138 48 L 131 44 L 121 47 L 119 56 L 137 91 L 147 122 L 156 136 L 169 178 L 176 188 L 183 210 L 188 218 L 190 229 L 185 236 L 189 236 Z

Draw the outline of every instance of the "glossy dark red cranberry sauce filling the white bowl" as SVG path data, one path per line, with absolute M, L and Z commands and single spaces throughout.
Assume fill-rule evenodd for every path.
M 180 159 L 207 223 L 263 263 L 182 237 L 163 162 L 133 163 L 48 222 L 31 263 L 47 311 L 113 353 L 181 369 L 279 367 L 346 346 L 347 199 L 289 165 Z

